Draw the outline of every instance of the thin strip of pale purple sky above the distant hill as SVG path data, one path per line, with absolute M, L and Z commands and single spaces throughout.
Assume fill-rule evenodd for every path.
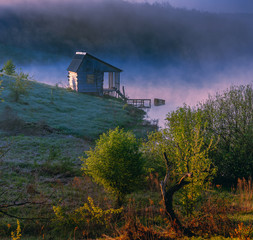
M 50 2 L 94 2 L 97 0 L 51 0 Z M 107 0 L 101 0 L 107 1 Z M 127 0 L 130 2 L 148 2 L 148 3 L 170 3 L 174 7 L 196 9 L 210 12 L 228 12 L 228 13 L 253 13 L 252 0 Z M 17 3 L 42 3 L 41 0 L 0 0 L 0 5 L 15 5 Z

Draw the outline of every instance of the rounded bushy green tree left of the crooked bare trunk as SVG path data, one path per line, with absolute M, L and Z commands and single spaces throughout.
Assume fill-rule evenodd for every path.
M 86 154 L 88 158 L 82 158 L 84 172 L 115 194 L 117 205 L 122 205 L 125 195 L 136 190 L 143 176 L 143 159 L 134 134 L 119 128 L 110 130 Z

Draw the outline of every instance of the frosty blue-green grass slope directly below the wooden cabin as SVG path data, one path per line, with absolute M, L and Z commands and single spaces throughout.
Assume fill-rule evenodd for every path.
M 1 79 L 4 102 L 0 104 L 0 115 L 7 130 L 11 124 L 8 118 L 12 122 L 16 118 L 21 125 L 24 121 L 26 127 L 27 123 L 36 123 L 64 134 L 95 139 L 117 126 L 134 128 L 144 115 L 143 111 L 126 107 L 113 98 L 85 95 L 35 81 L 31 82 L 29 94 L 15 102 L 9 88 L 15 79 L 7 76 Z M 17 123 L 15 125 L 17 127 Z

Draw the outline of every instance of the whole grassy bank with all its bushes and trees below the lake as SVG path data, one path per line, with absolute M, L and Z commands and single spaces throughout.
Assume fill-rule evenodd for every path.
M 1 83 L 2 239 L 253 238 L 252 86 L 145 137 L 122 102 L 35 82 L 17 100 L 17 79 Z

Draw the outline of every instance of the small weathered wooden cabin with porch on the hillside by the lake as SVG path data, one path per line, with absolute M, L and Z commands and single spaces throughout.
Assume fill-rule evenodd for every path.
M 76 52 L 67 70 L 69 87 L 77 92 L 102 96 L 104 93 L 120 90 L 122 70 L 87 52 Z M 105 74 L 108 85 L 106 88 L 104 88 Z

